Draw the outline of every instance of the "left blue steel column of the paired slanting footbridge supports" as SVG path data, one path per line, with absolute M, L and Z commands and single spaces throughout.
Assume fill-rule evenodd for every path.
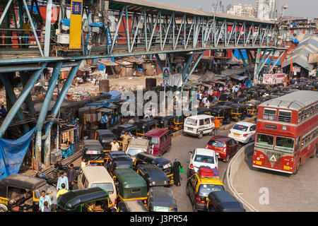
M 45 117 L 47 115 L 47 111 L 49 109 L 49 103 L 52 100 L 52 95 L 54 92 L 55 85 L 57 84 L 57 79 L 59 78 L 59 71 L 61 69 L 62 62 L 57 62 L 54 71 L 52 73 L 52 77 L 49 81 L 49 87 L 47 88 L 47 93 L 45 95 L 45 100 L 42 105 L 41 112 L 37 119 L 37 126 L 36 126 L 36 136 L 35 136 L 35 159 L 41 160 L 41 151 L 42 151 L 42 127 L 45 121 Z M 50 139 L 50 137 L 48 136 Z M 47 153 L 45 153 L 47 154 Z M 44 163 L 45 165 L 49 165 L 49 156 L 44 155 Z

